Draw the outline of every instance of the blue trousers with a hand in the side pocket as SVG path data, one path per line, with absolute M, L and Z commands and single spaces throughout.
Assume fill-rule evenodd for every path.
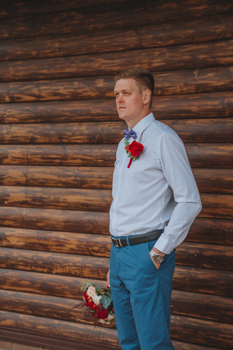
M 111 245 L 110 286 L 123 350 L 174 350 L 169 331 L 175 250 L 157 269 L 149 253 L 155 242 Z

